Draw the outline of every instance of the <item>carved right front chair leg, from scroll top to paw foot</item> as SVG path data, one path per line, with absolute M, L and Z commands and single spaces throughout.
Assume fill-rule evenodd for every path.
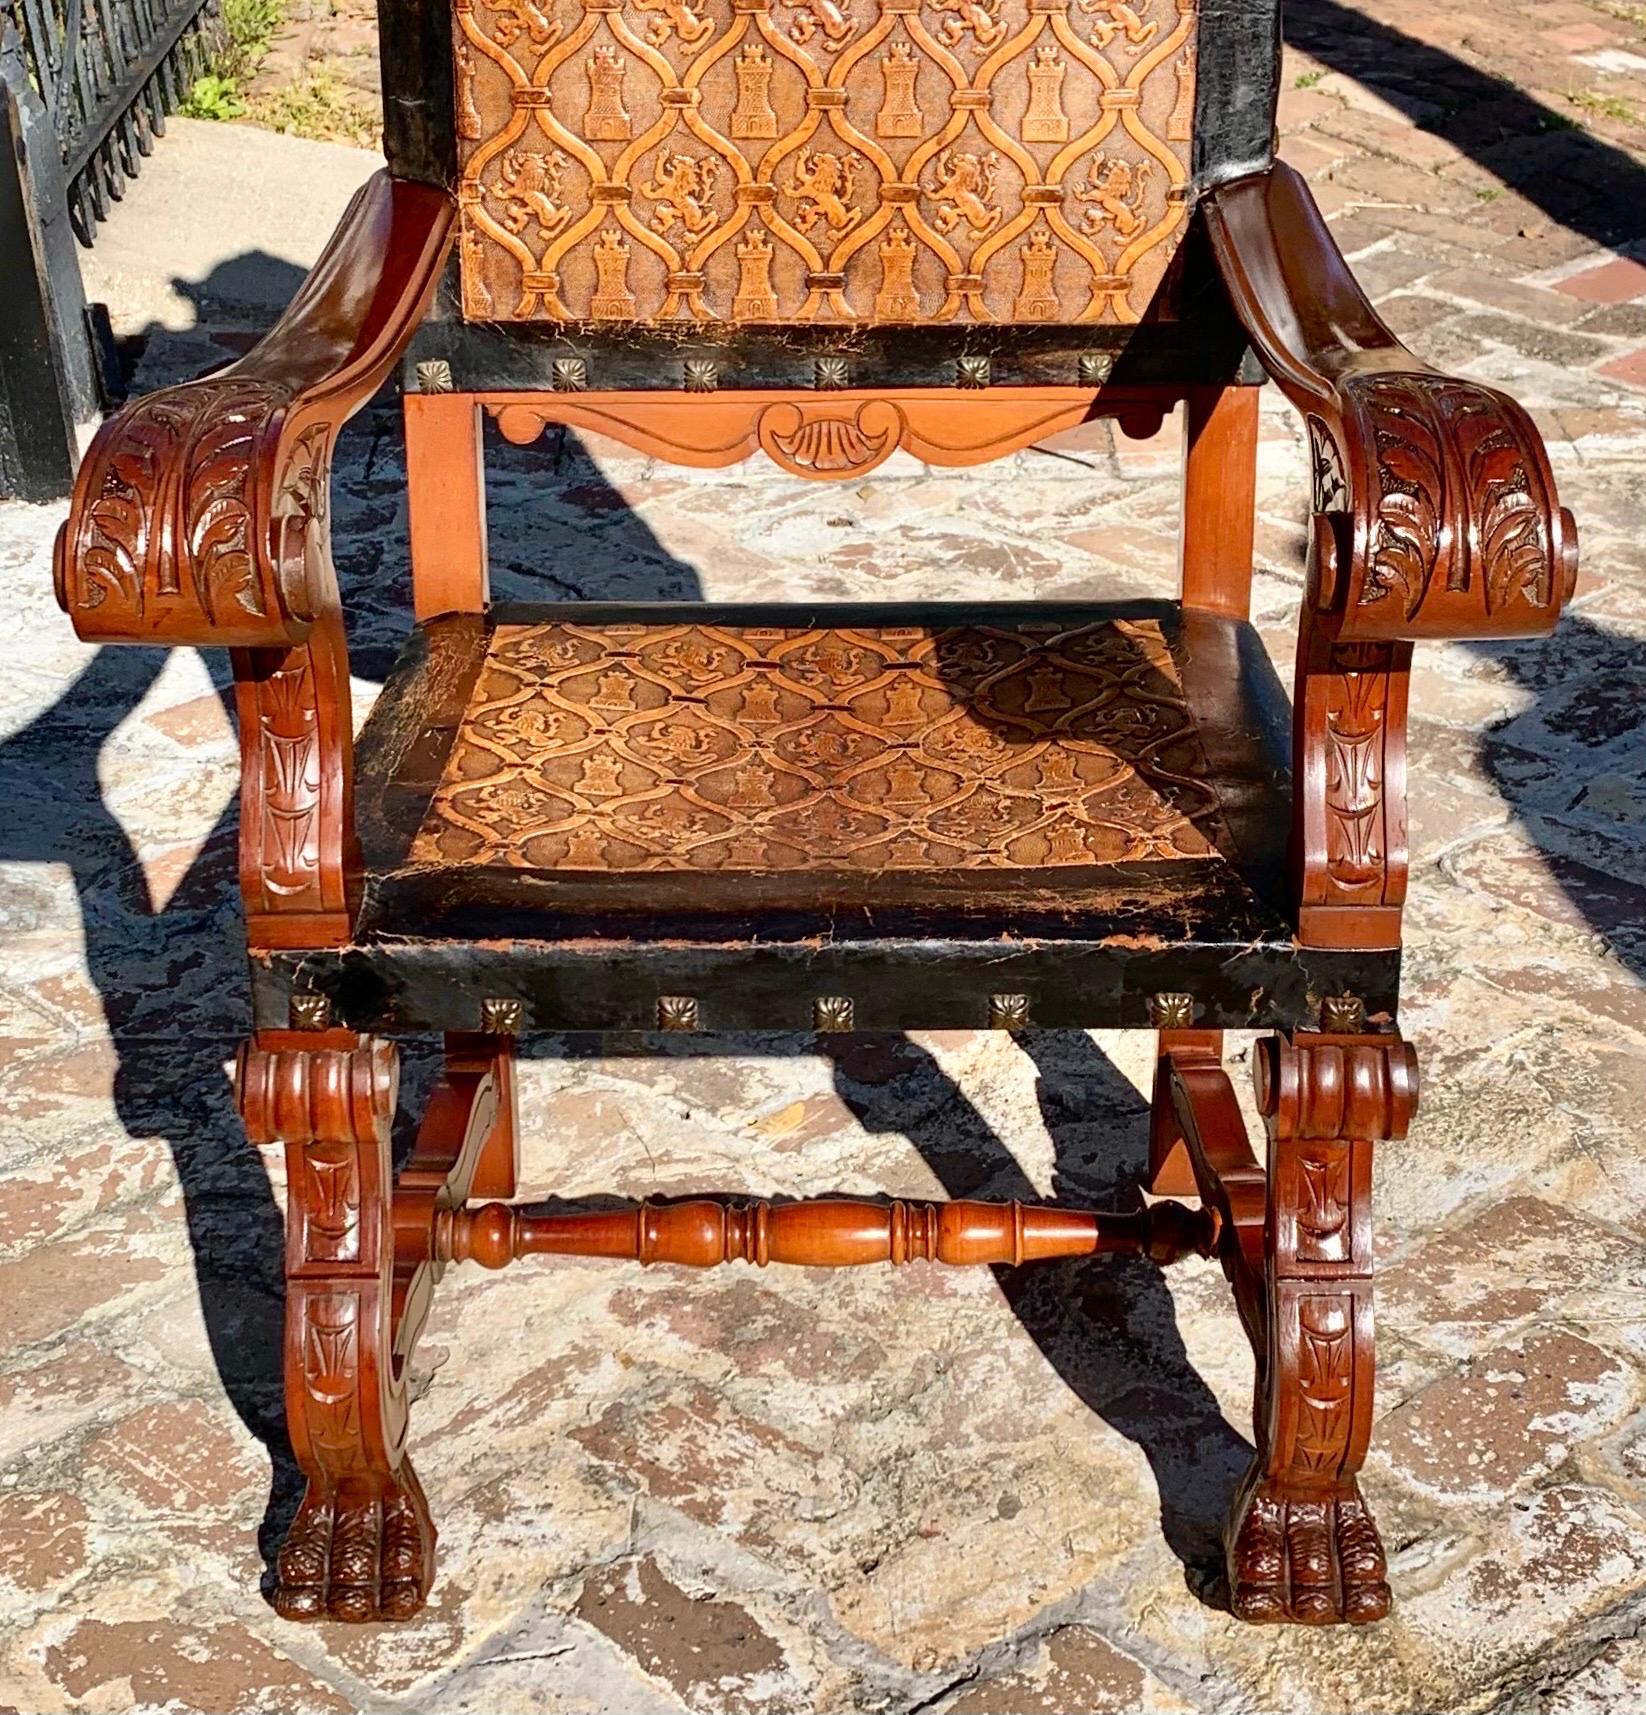
M 1272 1038 L 1257 1060 L 1269 1130 L 1265 1338 L 1257 1458 L 1228 1526 L 1247 1621 L 1365 1624 L 1389 1612 L 1358 1471 L 1372 1434 L 1372 1142 L 1406 1135 L 1416 1060 L 1397 1036 Z

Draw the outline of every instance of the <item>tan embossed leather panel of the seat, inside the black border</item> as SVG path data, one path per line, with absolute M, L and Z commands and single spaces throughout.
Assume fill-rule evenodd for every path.
M 1037 870 L 1214 859 L 1154 621 L 499 626 L 413 864 Z

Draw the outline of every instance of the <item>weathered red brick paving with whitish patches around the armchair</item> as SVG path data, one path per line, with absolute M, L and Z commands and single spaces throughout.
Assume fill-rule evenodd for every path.
M 1427 1084 L 1379 1163 L 1367 1471 L 1394 1617 L 1269 1633 L 1216 1605 L 1252 1365 L 1209 1266 L 564 1262 L 458 1271 L 437 1298 L 413 1417 L 429 1612 L 276 1621 L 283 1185 L 225 1077 L 245 1029 L 225 662 L 79 647 L 50 597 L 60 514 L 12 508 L 0 1705 L 1646 1705 L 1646 146 L 1617 118 L 1646 101 L 1646 36 L 1624 5 L 1493 0 L 1461 41 L 1413 0 L 1295 10 L 1286 156 L 1413 345 L 1535 406 L 1584 532 L 1557 638 L 1420 653 L 1403 1022 Z M 139 384 L 213 338 L 153 333 Z M 1305 456 L 1279 400 L 1264 425 L 1257 616 L 1284 665 Z M 492 552 L 501 593 L 538 599 L 1161 593 L 1176 458 L 1097 425 L 821 489 L 566 439 L 499 449 Z M 408 624 L 401 480 L 372 412 L 336 508 L 362 703 Z M 535 1043 L 523 1188 L 1102 1197 L 1142 1161 L 1147 1051 Z

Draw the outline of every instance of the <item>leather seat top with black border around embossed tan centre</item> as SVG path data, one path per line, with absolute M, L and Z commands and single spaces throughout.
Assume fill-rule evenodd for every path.
M 362 806 L 363 921 L 427 936 L 556 912 L 634 935 L 773 911 L 796 933 L 948 919 L 989 940 L 1174 909 L 1289 957 L 1284 705 L 1241 703 L 1228 621 L 940 612 L 432 621 L 420 672 L 466 705 L 415 767 L 382 768 L 393 809 Z M 765 1017 L 808 1027 L 809 1000 Z

